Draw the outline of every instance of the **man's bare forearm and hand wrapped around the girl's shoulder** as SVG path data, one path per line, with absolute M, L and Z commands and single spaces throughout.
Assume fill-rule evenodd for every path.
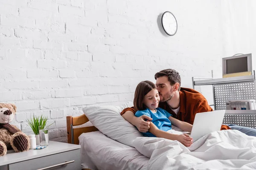
M 140 132 L 146 133 L 149 129 L 149 121 L 152 120 L 151 117 L 142 115 L 140 117 L 134 116 L 134 112 L 132 111 L 126 111 L 125 113 L 122 114 L 122 117 L 131 123 L 132 125 L 136 126 L 137 129 Z M 147 121 L 145 121 L 147 120 Z

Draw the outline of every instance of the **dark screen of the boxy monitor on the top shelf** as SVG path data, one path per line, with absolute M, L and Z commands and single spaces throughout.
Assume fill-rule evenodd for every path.
M 247 57 L 227 59 L 227 74 L 248 71 Z

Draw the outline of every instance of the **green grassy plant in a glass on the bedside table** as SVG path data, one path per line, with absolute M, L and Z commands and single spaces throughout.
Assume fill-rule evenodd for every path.
M 32 128 L 33 132 L 35 133 L 36 144 L 40 144 L 39 126 L 43 126 L 43 127 L 46 126 L 47 121 L 48 121 L 48 117 L 43 115 L 33 116 L 33 118 L 31 118 L 30 120 L 27 120 L 29 126 Z

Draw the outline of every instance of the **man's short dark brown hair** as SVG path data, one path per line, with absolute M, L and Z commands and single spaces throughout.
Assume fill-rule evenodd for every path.
M 155 74 L 155 79 L 157 79 L 159 77 L 163 77 L 163 76 L 168 77 L 168 80 L 171 85 L 174 85 L 176 82 L 181 85 L 180 74 L 176 70 L 166 69 L 166 70 L 159 71 Z M 180 91 L 180 87 L 179 87 L 178 91 Z

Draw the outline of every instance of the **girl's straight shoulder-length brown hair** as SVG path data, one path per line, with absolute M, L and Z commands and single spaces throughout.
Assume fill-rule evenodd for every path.
M 142 111 L 146 109 L 145 105 L 143 104 L 144 96 L 153 89 L 157 89 L 157 85 L 148 80 L 140 82 L 137 85 L 134 93 L 134 109 L 136 111 Z

